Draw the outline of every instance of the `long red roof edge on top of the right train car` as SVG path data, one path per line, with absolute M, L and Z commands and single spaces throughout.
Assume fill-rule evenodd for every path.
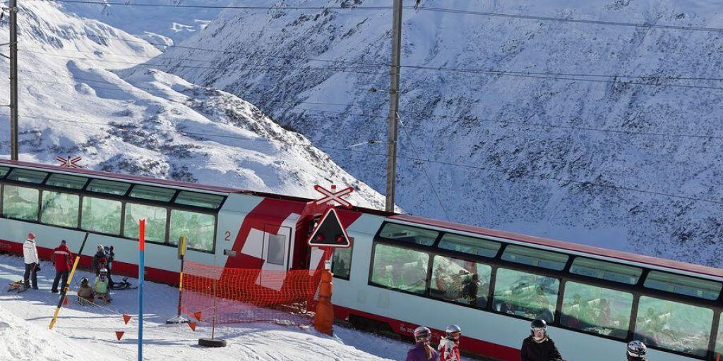
M 413 216 L 408 214 L 397 214 L 389 217 L 389 219 L 400 220 L 403 222 L 416 223 L 419 225 L 428 225 L 432 227 L 440 227 L 448 230 L 458 230 L 461 232 L 474 233 L 476 235 L 486 235 L 489 237 L 505 238 L 508 240 L 516 240 L 530 245 L 543 245 L 546 247 L 558 248 L 562 251 L 570 251 L 583 253 L 590 256 L 606 257 L 617 259 L 620 261 L 636 262 L 648 266 L 656 266 L 664 269 L 676 271 L 693 272 L 696 274 L 704 274 L 712 277 L 723 278 L 723 269 L 716 269 L 709 266 L 701 266 L 699 264 L 686 264 L 684 262 L 672 261 L 669 259 L 656 258 L 651 256 L 643 256 L 635 253 L 623 251 L 615 251 L 605 248 L 593 247 L 591 245 L 582 245 L 578 243 L 563 242 L 562 240 L 552 240 L 549 238 L 535 237 L 531 235 L 521 235 L 515 232 L 507 232 L 502 230 L 491 230 L 489 228 L 477 227 L 471 225 L 461 225 L 459 223 L 445 222 L 438 219 Z

